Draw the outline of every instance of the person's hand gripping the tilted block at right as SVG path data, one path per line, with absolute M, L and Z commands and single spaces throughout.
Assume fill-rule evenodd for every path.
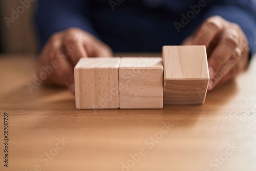
M 210 82 L 214 89 L 241 72 L 247 65 L 249 48 L 241 28 L 220 16 L 212 16 L 182 45 L 205 45 L 208 56 Z

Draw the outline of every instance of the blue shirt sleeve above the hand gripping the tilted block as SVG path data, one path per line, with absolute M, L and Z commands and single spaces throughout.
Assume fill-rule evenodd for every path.
M 219 15 L 229 22 L 238 24 L 247 37 L 250 54 L 256 52 L 256 8 L 251 0 L 219 1 L 205 13 L 201 23 L 213 15 Z

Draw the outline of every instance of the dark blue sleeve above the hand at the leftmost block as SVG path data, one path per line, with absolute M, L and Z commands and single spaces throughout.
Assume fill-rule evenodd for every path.
M 89 18 L 89 2 L 86 0 L 39 0 L 35 13 L 35 25 L 41 47 L 56 32 L 77 27 L 98 36 Z

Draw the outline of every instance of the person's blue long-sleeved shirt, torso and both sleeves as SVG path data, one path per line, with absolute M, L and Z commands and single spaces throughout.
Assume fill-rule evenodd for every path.
M 164 45 L 180 45 L 213 15 L 237 23 L 255 52 L 256 9 L 250 0 L 39 0 L 36 25 L 41 46 L 53 33 L 78 27 L 114 52 L 161 52 Z

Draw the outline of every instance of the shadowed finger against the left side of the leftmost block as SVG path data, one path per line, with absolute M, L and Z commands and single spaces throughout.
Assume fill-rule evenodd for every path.
M 56 75 L 62 84 L 64 84 L 69 90 L 74 94 L 75 86 L 74 86 L 74 67 L 68 58 L 63 60 L 60 57 L 56 57 L 58 68 L 56 69 Z

